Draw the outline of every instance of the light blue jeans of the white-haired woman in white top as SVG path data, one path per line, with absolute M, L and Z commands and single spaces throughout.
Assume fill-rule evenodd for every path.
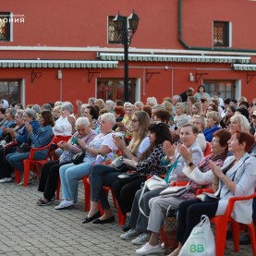
M 87 161 L 79 165 L 71 163 L 59 168 L 63 199 L 78 201 L 79 179 L 90 175 L 93 163 L 94 161 Z

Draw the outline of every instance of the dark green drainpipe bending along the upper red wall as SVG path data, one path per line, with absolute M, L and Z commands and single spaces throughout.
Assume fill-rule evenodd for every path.
M 239 53 L 256 53 L 256 50 L 238 49 L 238 48 L 219 48 L 219 47 L 202 47 L 202 46 L 189 46 L 183 41 L 182 38 L 182 0 L 178 0 L 178 41 L 184 48 L 189 50 L 201 51 L 219 51 L 219 52 L 239 52 Z

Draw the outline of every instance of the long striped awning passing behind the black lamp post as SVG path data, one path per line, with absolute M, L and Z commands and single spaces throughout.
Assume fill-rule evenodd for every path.
M 98 53 L 97 56 L 102 60 L 124 60 L 124 54 Z M 128 60 L 145 62 L 250 63 L 250 56 L 128 54 Z

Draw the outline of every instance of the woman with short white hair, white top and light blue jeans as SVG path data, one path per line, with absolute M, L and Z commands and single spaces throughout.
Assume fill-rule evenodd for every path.
M 116 145 L 112 140 L 112 128 L 115 123 L 115 116 L 111 113 L 105 113 L 101 116 L 100 121 L 102 133 L 95 136 L 89 144 L 78 139 L 79 145 L 85 151 L 83 163 L 79 165 L 71 163 L 60 167 L 59 175 L 63 200 L 55 207 L 56 210 L 70 207 L 78 201 L 79 179 L 90 175 L 91 165 L 95 162 L 96 156 L 107 155 L 110 152 L 117 151 Z

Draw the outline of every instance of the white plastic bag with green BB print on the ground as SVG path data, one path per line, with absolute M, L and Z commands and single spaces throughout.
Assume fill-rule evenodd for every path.
M 211 223 L 206 215 L 195 226 L 178 256 L 215 256 L 215 241 Z

